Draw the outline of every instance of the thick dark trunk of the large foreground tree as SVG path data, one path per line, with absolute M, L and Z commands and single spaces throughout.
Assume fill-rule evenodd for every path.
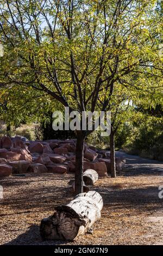
M 85 136 L 82 131 L 77 131 L 76 144 L 76 173 L 75 173 L 75 193 L 83 193 L 83 160 L 84 160 Z

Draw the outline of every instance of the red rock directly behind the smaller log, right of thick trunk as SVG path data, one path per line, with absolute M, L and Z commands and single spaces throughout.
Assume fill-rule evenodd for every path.
M 96 170 L 98 176 L 104 177 L 108 176 L 107 168 L 105 162 L 85 162 L 84 161 L 84 171 L 86 169 Z

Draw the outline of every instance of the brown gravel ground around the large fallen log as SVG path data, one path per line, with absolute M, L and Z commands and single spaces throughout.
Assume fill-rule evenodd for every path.
M 42 241 L 39 225 L 53 214 L 54 206 L 73 198 L 67 183 L 73 174 L 28 174 L 0 180 L 1 245 L 163 245 L 163 163 L 141 159 L 123 152 L 126 166 L 117 178 L 101 178 L 93 190 L 104 200 L 102 217 L 93 225 L 93 234 L 76 241 Z

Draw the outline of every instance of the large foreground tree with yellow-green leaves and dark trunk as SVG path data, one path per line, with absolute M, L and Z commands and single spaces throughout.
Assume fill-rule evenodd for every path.
M 1 80 L 46 93 L 80 113 L 109 110 L 111 102 L 116 103 L 116 87 L 126 87 L 139 97 L 148 88 L 147 78 L 152 83 L 162 77 L 158 54 L 162 32 L 155 4 L 154 0 L 1 0 L 4 62 L 9 56 L 17 58 Z M 130 84 L 136 75 L 141 77 L 139 86 Z M 152 93 L 153 86 L 149 90 Z M 90 132 L 77 131 L 76 193 L 83 192 L 84 141 Z

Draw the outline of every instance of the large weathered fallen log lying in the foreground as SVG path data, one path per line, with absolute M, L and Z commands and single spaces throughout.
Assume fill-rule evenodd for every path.
M 78 194 L 67 205 L 55 207 L 53 216 L 40 225 L 43 240 L 73 241 L 77 236 L 91 233 L 91 226 L 101 218 L 103 199 L 96 191 Z

